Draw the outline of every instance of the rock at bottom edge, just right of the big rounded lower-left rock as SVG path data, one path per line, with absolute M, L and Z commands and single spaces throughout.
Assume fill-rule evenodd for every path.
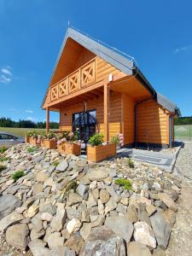
M 43 240 L 35 239 L 29 242 L 28 247 L 33 256 L 53 256 L 51 251 L 46 248 L 45 245 L 46 243 Z

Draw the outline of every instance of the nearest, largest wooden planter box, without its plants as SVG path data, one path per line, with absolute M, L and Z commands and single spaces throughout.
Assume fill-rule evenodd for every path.
M 116 155 L 116 144 L 109 143 L 105 146 L 87 146 L 87 160 L 98 162 Z

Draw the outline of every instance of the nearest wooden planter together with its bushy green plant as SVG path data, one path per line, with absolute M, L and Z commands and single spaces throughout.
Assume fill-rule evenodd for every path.
M 116 154 L 115 143 L 103 143 L 102 133 L 90 137 L 87 145 L 87 160 L 98 162 Z

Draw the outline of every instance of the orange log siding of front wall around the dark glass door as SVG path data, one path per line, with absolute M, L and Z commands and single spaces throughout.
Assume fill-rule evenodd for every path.
M 109 99 L 109 137 L 116 136 L 121 131 L 121 95 L 113 93 Z M 96 109 L 96 120 L 99 124 L 99 131 L 104 134 L 103 125 L 103 96 L 87 101 L 87 109 Z M 72 131 L 73 113 L 84 110 L 83 104 L 76 104 L 71 107 L 61 108 L 60 129 L 61 131 Z

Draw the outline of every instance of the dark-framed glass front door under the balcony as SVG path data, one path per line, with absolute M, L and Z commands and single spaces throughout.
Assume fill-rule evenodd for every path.
M 96 133 L 96 110 L 73 113 L 73 132 L 79 132 L 79 140 L 88 143 Z

